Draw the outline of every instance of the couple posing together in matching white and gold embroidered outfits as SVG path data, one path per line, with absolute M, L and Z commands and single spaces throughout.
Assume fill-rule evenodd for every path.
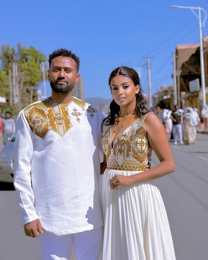
M 16 120 L 14 186 L 25 234 L 39 237 L 44 260 L 67 259 L 69 235 L 76 260 L 98 260 L 101 248 L 102 260 L 175 259 L 153 182 L 174 171 L 174 162 L 161 122 L 145 106 L 138 74 L 124 66 L 111 72 L 113 100 L 103 119 L 71 96 L 78 69 L 71 51 L 53 51 L 51 96 L 25 107 Z M 160 163 L 145 171 L 152 148 Z

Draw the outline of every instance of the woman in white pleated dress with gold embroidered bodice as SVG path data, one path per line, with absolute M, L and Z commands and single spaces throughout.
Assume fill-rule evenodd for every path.
M 113 100 L 102 125 L 105 158 L 99 183 L 104 218 L 102 260 L 173 260 L 166 211 L 153 182 L 174 171 L 164 127 L 145 107 L 134 69 L 115 68 L 109 85 Z M 160 163 L 145 171 L 152 148 Z

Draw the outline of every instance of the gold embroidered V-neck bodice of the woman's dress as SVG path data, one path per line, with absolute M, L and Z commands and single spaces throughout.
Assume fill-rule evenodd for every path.
M 138 117 L 119 133 L 111 146 L 111 125 L 103 124 L 102 149 L 107 168 L 117 170 L 145 170 L 152 148 L 148 142 L 143 122 L 146 115 Z

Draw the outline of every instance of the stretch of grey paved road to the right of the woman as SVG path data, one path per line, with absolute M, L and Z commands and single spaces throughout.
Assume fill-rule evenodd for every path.
M 171 143 L 170 143 L 171 144 Z M 175 172 L 155 180 L 167 210 L 177 260 L 208 259 L 208 135 L 171 144 Z M 152 164 L 156 163 L 155 155 Z

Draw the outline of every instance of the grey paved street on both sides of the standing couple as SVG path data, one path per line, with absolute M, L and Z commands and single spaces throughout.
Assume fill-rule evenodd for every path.
M 208 134 L 174 145 L 175 172 L 156 179 L 166 207 L 177 260 L 208 259 Z M 151 166 L 158 162 L 152 155 Z M 41 259 L 37 238 L 24 235 L 11 184 L 0 183 L 0 260 Z M 127 259 L 126 259 L 127 260 Z

